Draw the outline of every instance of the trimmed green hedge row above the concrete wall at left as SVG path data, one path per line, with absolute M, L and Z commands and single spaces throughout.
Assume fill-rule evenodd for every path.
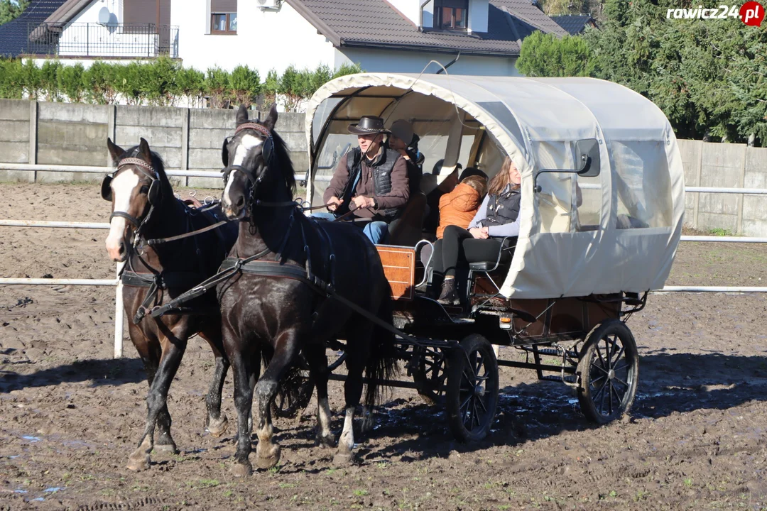
M 207 100 L 212 108 L 258 103 L 264 109 L 276 99 L 285 110 L 296 111 L 328 80 L 359 72 L 359 66 L 348 64 L 335 72 L 325 65 L 314 70 L 290 66 L 281 76 L 270 70 L 262 83 L 258 71 L 247 66 L 231 72 L 211 67 L 202 73 L 167 57 L 128 64 L 95 61 L 87 69 L 56 60 L 38 67 L 30 59 L 0 58 L 0 97 L 154 106 L 205 106 Z

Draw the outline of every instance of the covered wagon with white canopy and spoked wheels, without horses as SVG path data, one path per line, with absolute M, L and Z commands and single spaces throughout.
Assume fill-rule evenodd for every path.
M 492 177 L 505 155 L 522 175 L 513 256 L 469 264 L 460 306 L 443 306 L 419 286 L 430 275 L 418 257 L 429 243 L 420 240 L 420 211 L 406 208 L 390 233 L 396 245 L 377 247 L 396 300 L 400 357 L 414 382 L 390 385 L 443 397 L 449 425 L 465 441 L 491 427 L 499 365 L 535 369 L 538 378 L 576 389 L 591 421 L 624 414 L 638 373 L 625 322 L 644 307 L 648 290 L 663 287 L 682 228 L 682 163 L 660 109 L 588 78 L 337 78 L 307 109 L 312 205 L 321 205 L 338 159 L 354 145 L 347 125 L 364 115 L 387 126 L 410 121 L 424 172 L 443 160 L 438 181 L 459 162 Z M 492 345 L 528 356 L 499 360 Z

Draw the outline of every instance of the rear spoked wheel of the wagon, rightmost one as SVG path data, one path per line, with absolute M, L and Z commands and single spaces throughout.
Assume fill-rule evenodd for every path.
M 589 334 L 578 361 L 578 401 L 590 421 L 606 424 L 627 413 L 637 394 L 639 354 L 630 329 L 618 319 Z

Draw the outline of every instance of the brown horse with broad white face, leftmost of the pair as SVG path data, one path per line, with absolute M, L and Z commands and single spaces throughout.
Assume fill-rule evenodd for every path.
M 122 274 L 123 301 L 130 340 L 141 357 L 149 381 L 146 396 L 146 427 L 137 450 L 130 454 L 128 468 L 143 470 L 150 465 L 152 449 L 176 452 L 170 435 L 166 398 L 190 336 L 199 333 L 216 356 L 206 406 L 206 427 L 216 437 L 227 425 L 221 414 L 221 391 L 229 362 L 221 339 L 221 316 L 214 293 L 189 303 L 188 310 L 175 310 L 154 319 L 149 310 L 216 273 L 236 237 L 236 227 L 225 224 L 176 241 L 154 244 L 150 240 L 189 233 L 222 220 L 220 208 L 202 212 L 190 208 L 173 195 L 163 161 L 150 151 L 146 140 L 124 151 L 107 139 L 117 169 L 107 175 L 101 195 L 111 201 L 107 252 L 112 260 L 125 261 Z M 157 425 L 160 435 L 154 442 Z

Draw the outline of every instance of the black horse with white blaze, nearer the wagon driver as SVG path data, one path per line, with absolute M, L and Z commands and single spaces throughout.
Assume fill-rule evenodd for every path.
M 352 459 L 352 423 L 362 396 L 363 372 L 370 378 L 365 398 L 370 407 L 378 397 L 380 380 L 390 378 L 396 368 L 392 334 L 333 297 L 337 293 L 391 324 L 391 291 L 376 248 L 360 229 L 318 223 L 297 208 L 292 201 L 293 165 L 285 142 L 274 131 L 276 122 L 274 106 L 263 123 L 249 121 L 248 110 L 241 106 L 235 136 L 224 142 L 222 155 L 226 165 L 222 209 L 228 218 L 240 221 L 237 243 L 224 265 L 255 259 L 255 266 L 245 265 L 242 274 L 219 285 L 224 346 L 234 372 L 239 415 L 232 472 L 239 476 L 252 470 L 248 418 L 254 388 L 256 464 L 267 469 L 279 461 L 269 405 L 299 352 L 317 388 L 318 444 L 333 447 L 325 346 L 346 339 L 346 418 L 336 464 Z M 271 362 L 258 378 L 262 352 Z

